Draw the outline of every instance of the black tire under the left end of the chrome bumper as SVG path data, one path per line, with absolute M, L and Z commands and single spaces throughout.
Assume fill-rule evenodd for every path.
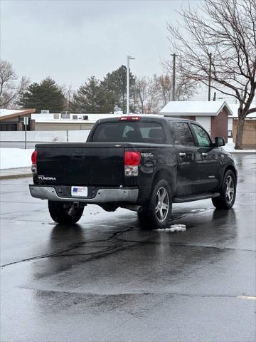
M 73 208 L 73 202 L 48 201 L 50 217 L 60 224 L 75 224 L 82 216 L 83 207 Z

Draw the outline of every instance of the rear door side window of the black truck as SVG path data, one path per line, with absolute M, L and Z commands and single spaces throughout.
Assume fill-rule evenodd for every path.
M 170 123 L 174 144 L 195 146 L 193 135 L 187 123 Z

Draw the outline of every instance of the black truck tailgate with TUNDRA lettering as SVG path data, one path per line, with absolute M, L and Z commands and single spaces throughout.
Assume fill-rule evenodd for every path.
M 117 144 L 41 144 L 36 150 L 41 184 L 124 185 L 124 147 Z

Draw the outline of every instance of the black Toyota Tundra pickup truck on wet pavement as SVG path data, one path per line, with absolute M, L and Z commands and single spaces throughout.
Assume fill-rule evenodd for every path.
M 141 227 L 164 228 L 173 203 L 211 198 L 216 208 L 235 202 L 233 157 L 191 120 L 121 116 L 98 120 L 87 142 L 36 145 L 33 197 L 48 199 L 50 216 L 74 224 L 87 204 L 108 212 L 138 212 Z

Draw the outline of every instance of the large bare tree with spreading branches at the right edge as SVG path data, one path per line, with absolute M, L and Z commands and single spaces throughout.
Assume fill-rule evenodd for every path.
M 235 148 L 242 148 L 245 118 L 256 112 L 256 1 L 205 0 L 197 11 L 180 13 L 179 28 L 168 24 L 169 38 L 182 56 L 183 75 L 233 96 L 239 102 Z M 211 62 L 211 71 L 209 64 Z

